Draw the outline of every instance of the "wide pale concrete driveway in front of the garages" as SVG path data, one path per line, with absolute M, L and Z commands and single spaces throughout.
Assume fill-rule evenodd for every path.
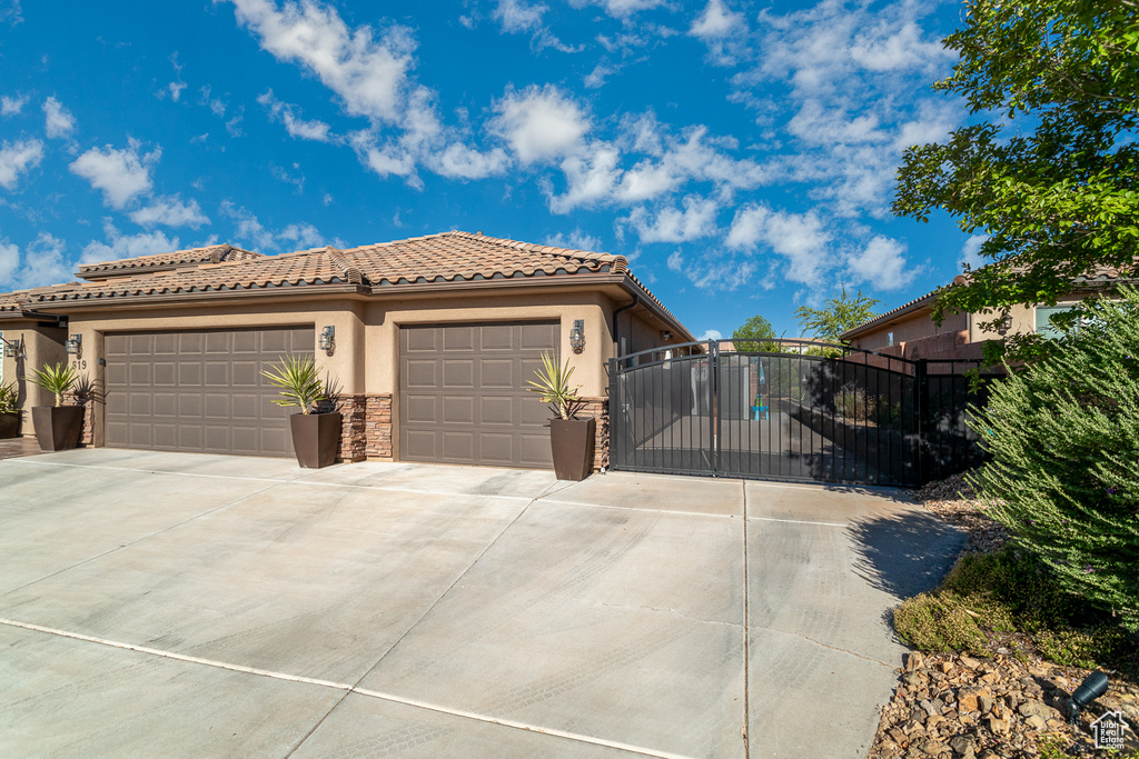
M 0 756 L 865 756 L 961 542 L 886 489 L 9 459 Z

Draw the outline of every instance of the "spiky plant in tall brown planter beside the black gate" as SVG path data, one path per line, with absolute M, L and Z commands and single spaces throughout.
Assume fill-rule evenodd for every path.
M 542 354 L 542 368 L 535 372 L 538 381 L 531 381 L 531 393 L 536 393 L 543 403 L 550 405 L 550 453 L 554 457 L 554 473 L 559 480 L 583 480 L 593 469 L 593 436 L 596 419 L 577 419 L 577 412 L 585 402 L 577 395 L 581 386 L 571 387 L 573 369 L 566 360 L 560 366 L 552 354 Z

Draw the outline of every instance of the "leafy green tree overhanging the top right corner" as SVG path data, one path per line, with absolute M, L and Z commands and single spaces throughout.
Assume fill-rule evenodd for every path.
M 1139 242 L 1139 0 L 967 0 L 944 40 L 959 56 L 934 89 L 975 123 L 909 148 L 894 213 L 948 212 L 988 239 L 986 266 L 945 288 L 934 319 L 1055 305 L 1075 278 L 1136 267 Z

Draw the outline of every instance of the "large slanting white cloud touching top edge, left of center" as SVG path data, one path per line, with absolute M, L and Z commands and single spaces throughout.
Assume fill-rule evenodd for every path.
M 413 63 L 415 41 L 408 28 L 350 30 L 335 8 L 319 0 L 286 2 L 282 8 L 273 0 L 232 2 L 238 22 L 260 38 L 264 50 L 314 74 L 339 96 L 349 114 L 398 121 Z

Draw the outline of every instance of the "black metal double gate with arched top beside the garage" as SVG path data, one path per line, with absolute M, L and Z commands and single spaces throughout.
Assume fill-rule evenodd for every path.
M 805 340 L 760 347 L 721 352 L 713 340 L 612 360 L 612 468 L 916 486 L 980 461 L 965 424 L 988 395 L 965 376 L 978 362 Z

